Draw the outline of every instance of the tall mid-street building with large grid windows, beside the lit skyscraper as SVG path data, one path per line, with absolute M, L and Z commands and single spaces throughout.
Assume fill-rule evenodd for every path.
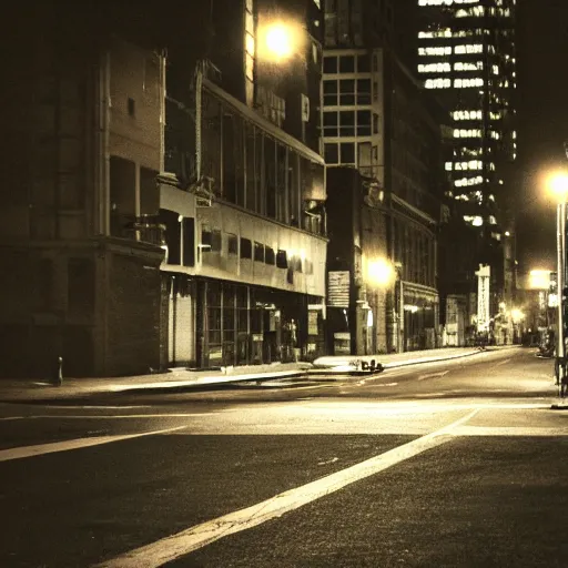
M 358 170 L 363 182 L 349 183 L 366 193 L 365 201 L 355 197 L 362 229 L 354 233 L 359 250 L 353 257 L 362 267 L 353 268 L 361 275 L 353 284 L 359 307 L 371 313 L 359 321 L 374 322 L 374 337 L 358 352 L 438 345 L 443 112 L 394 50 L 394 24 L 389 1 L 325 3 L 322 138 L 334 192 L 329 215 L 341 215 L 346 175 L 334 175 L 335 168 Z M 337 223 L 329 219 L 329 226 Z M 381 286 L 373 272 L 384 261 L 396 277 Z

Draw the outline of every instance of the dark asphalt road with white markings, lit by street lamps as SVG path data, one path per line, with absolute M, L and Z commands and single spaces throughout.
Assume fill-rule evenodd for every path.
M 568 566 L 551 371 L 0 405 L 0 566 Z

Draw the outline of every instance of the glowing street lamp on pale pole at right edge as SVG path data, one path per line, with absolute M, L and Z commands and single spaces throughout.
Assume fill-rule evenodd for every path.
M 566 199 L 568 195 L 568 174 L 557 172 L 548 180 L 550 192 L 556 196 L 556 253 L 558 270 L 558 333 L 555 361 L 556 383 L 560 398 L 565 398 L 567 387 L 566 374 L 566 342 L 565 342 L 565 301 L 564 290 L 566 287 Z

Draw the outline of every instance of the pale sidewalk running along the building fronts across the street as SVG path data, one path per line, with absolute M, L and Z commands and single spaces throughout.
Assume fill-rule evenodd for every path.
M 488 351 L 514 348 L 517 346 L 489 347 Z M 0 402 L 34 402 L 81 398 L 91 394 L 168 392 L 191 389 L 207 385 L 237 382 L 317 381 L 322 375 L 345 378 L 361 371 L 361 363 L 375 359 L 385 371 L 405 365 L 447 361 L 479 354 L 474 347 L 452 347 L 420 352 L 393 353 L 389 355 L 345 355 L 325 356 L 311 363 L 273 363 L 229 367 L 222 371 L 187 371 L 172 368 L 169 373 L 104 378 L 63 378 L 63 384 L 54 386 L 48 381 L 0 379 Z

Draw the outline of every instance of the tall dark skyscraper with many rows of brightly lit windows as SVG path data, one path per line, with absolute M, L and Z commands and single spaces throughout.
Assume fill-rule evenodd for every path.
M 409 19 L 417 28 L 418 73 L 450 113 L 445 170 L 454 219 L 442 287 L 474 292 L 475 271 L 488 264 L 490 312 L 501 321 L 504 306 L 509 314 L 513 307 L 515 275 L 515 10 L 516 0 L 418 0 Z M 458 244 L 465 242 L 468 260 Z

